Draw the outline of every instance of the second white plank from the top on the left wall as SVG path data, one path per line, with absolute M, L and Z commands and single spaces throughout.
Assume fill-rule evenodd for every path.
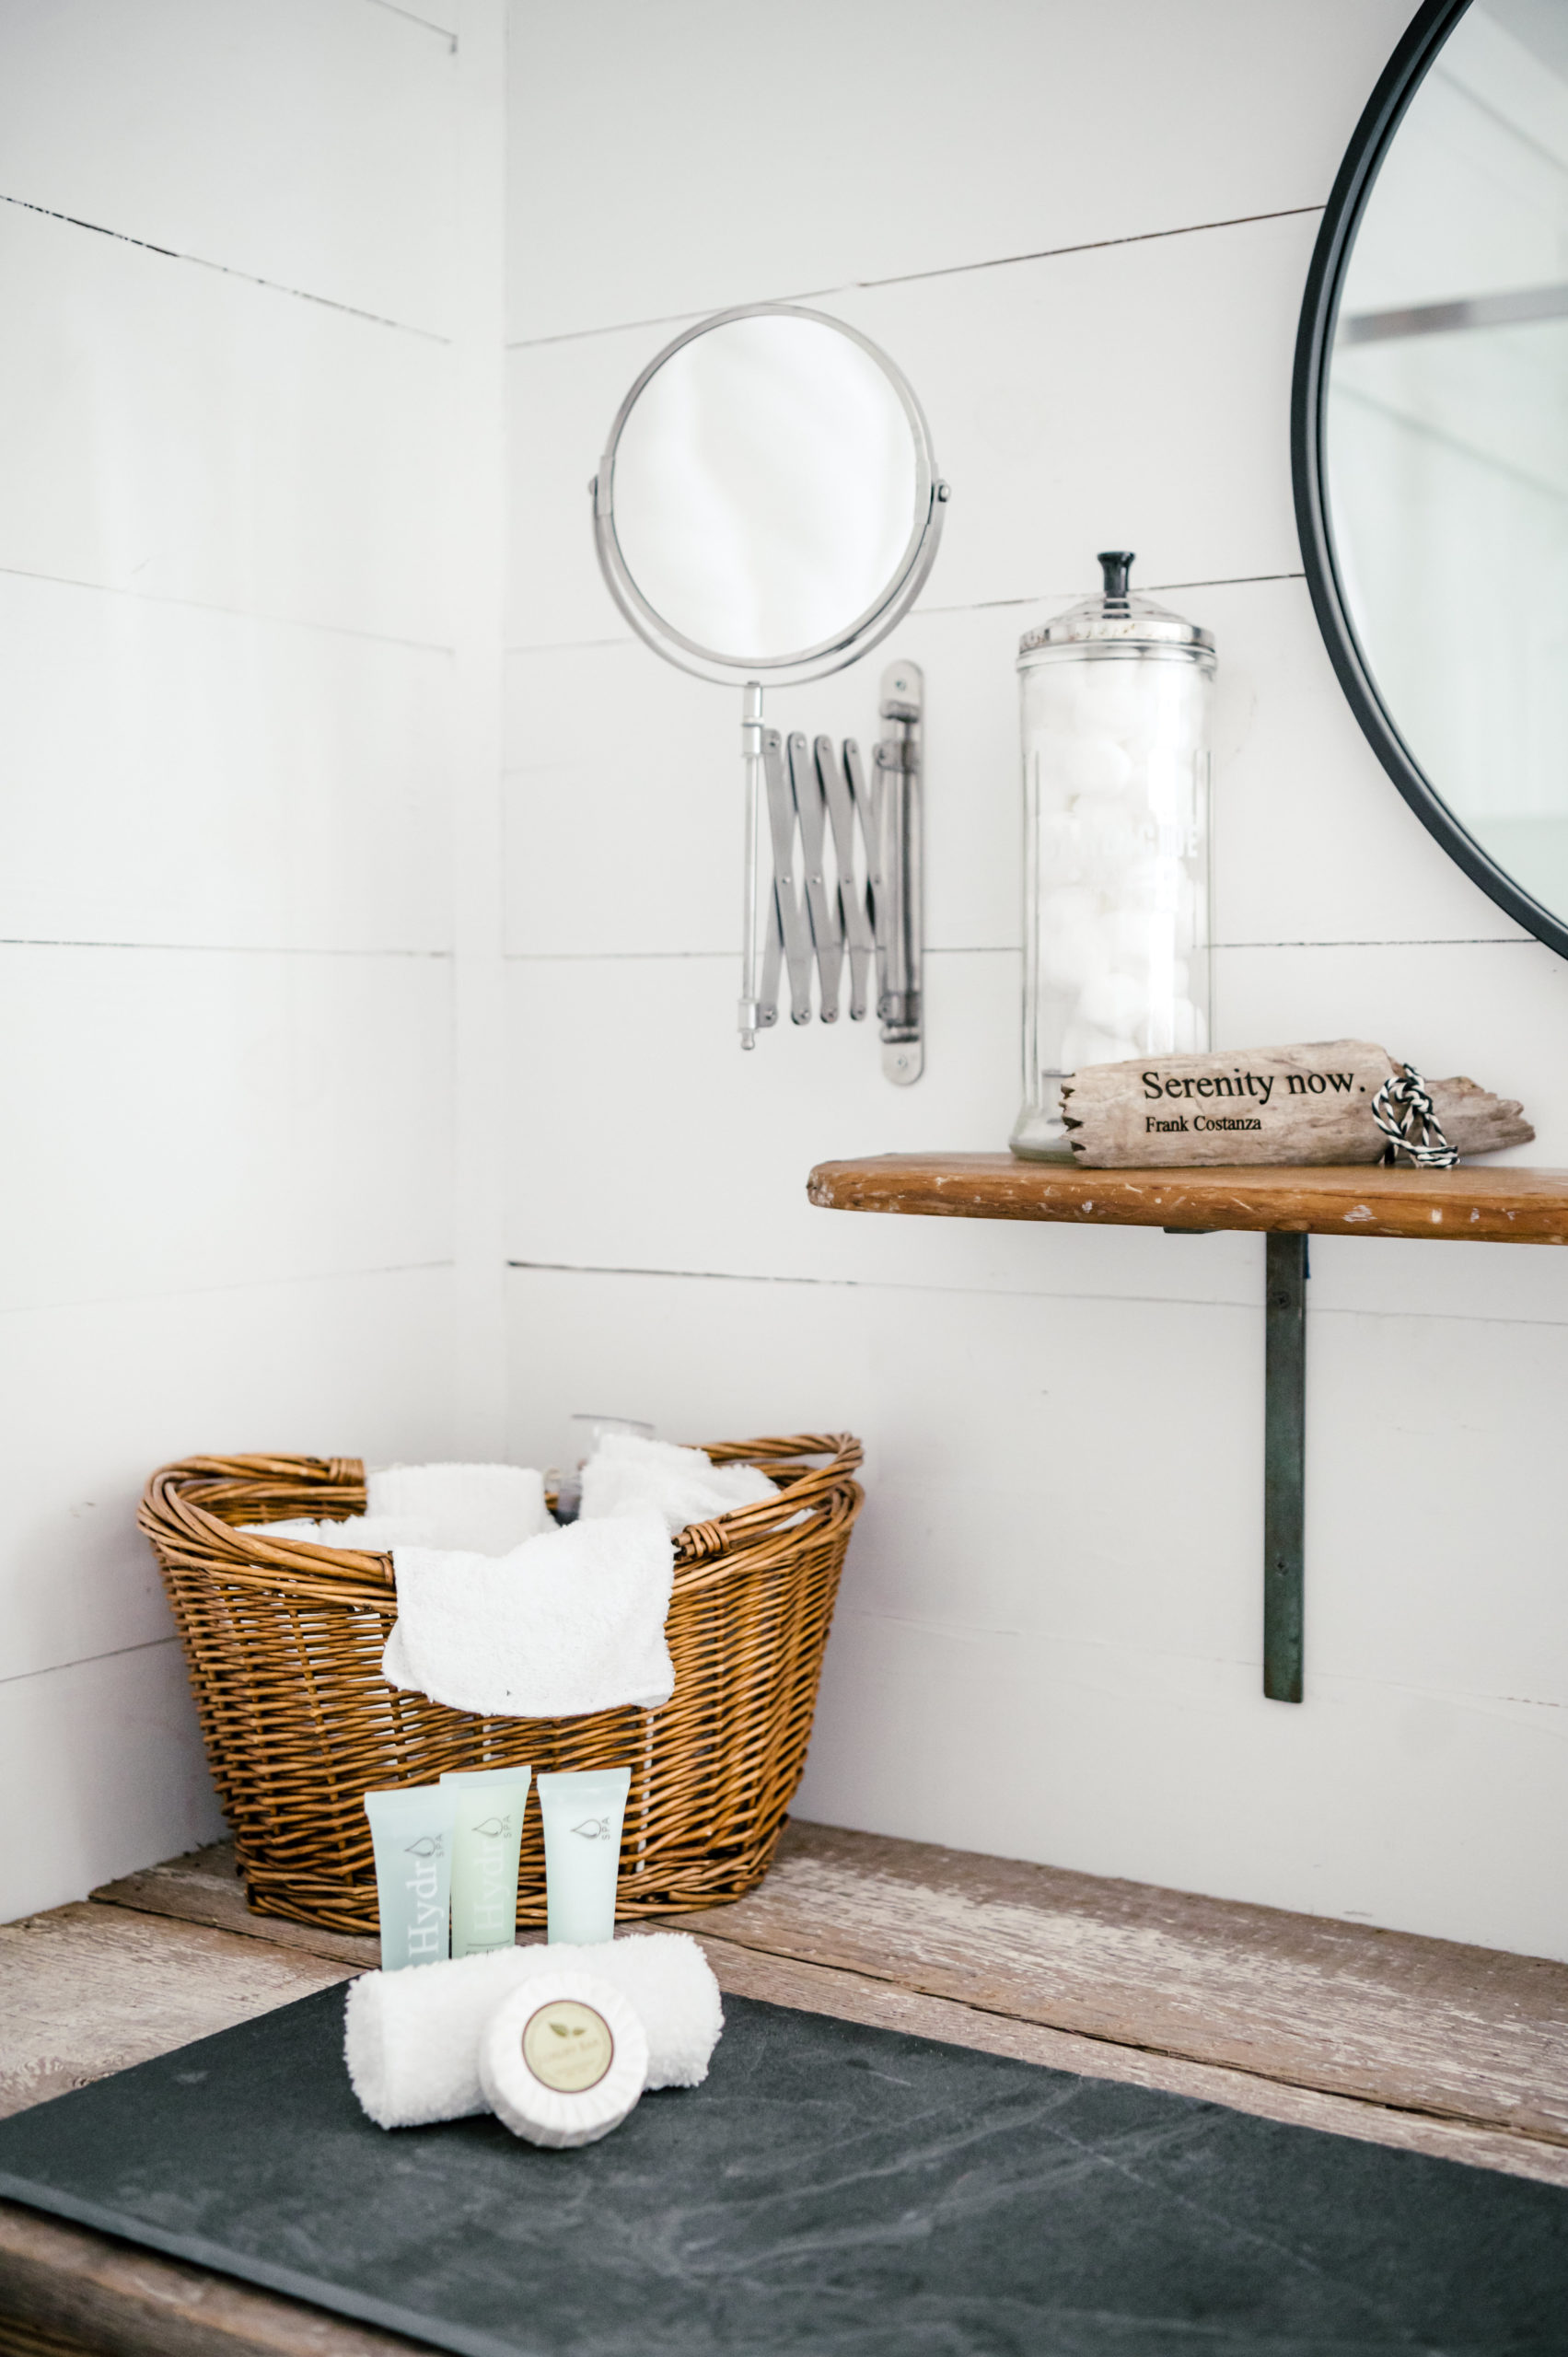
M 446 346 L 7 205 L 0 269 L 0 570 L 446 643 Z

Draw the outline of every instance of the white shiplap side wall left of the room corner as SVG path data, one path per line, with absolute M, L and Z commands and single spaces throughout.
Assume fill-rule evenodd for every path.
M 493 1445 L 500 156 L 500 0 L 0 19 L 0 1916 L 217 1829 L 151 1466 Z

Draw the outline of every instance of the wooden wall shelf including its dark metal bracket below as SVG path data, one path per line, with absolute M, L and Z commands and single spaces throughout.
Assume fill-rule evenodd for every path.
M 1568 1171 L 1535 1169 L 1118 1169 L 1014 1155 L 877 1155 L 818 1162 L 825 1211 L 1047 1219 L 1266 1237 L 1264 1282 L 1264 1692 L 1302 1699 L 1306 1494 L 1306 1237 L 1403 1235 L 1450 1244 L 1568 1244 Z

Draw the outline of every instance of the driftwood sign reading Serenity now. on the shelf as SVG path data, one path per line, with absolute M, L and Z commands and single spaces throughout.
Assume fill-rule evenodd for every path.
M 1061 1084 L 1073 1157 L 1089 1169 L 1181 1162 L 1382 1162 L 1372 1098 L 1403 1070 L 1370 1039 L 1252 1047 L 1228 1056 L 1092 1063 Z M 1462 1155 L 1528 1146 L 1514 1098 L 1474 1080 L 1429 1080 L 1434 1113 Z

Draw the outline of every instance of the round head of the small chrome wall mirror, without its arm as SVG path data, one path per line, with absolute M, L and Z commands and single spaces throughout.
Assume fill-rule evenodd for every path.
M 905 377 L 792 304 L 724 311 L 639 375 L 594 483 L 606 582 L 705 679 L 799 681 L 887 636 L 931 570 L 946 486 Z

